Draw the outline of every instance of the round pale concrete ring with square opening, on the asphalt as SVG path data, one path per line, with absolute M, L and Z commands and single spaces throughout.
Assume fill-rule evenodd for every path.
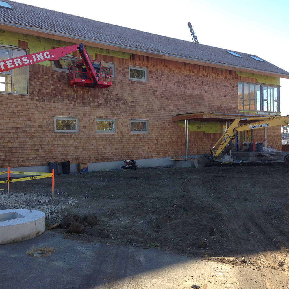
M 45 214 L 28 209 L 0 210 L 0 245 L 29 240 L 45 231 Z

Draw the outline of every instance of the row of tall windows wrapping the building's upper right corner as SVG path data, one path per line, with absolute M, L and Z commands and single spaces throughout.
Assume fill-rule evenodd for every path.
M 279 112 L 279 86 L 239 82 L 238 103 L 240 110 Z

